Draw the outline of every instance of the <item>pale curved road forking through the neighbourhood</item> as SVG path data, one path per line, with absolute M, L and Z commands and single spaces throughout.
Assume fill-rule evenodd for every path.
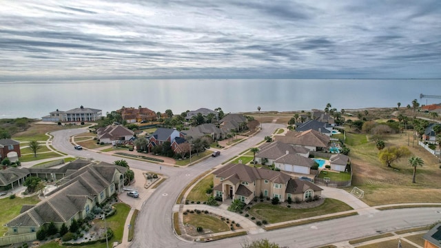
M 215 242 L 192 243 L 177 238 L 172 227 L 172 208 L 184 187 L 199 174 L 223 163 L 227 158 L 232 158 L 245 149 L 253 147 L 263 141 L 265 136 L 271 135 L 276 128 L 282 126 L 274 123 L 263 124 L 263 130 L 256 136 L 229 147 L 229 149 L 224 149 L 221 156 L 206 159 L 196 165 L 184 168 L 162 166 L 161 173 L 168 176 L 169 179 L 165 180 L 143 204 L 136 220 L 135 239 L 130 247 L 241 247 L 240 244 L 247 240 L 259 238 L 268 238 L 271 242 L 276 242 L 281 246 L 316 247 L 362 236 L 371 236 L 384 231 L 428 225 L 441 220 L 441 207 L 420 207 L 378 211 L 375 214 L 327 220 L 310 225 L 227 238 Z M 83 151 L 73 149 L 69 138 L 81 132 L 84 132 L 84 130 L 52 132 L 54 135 L 52 145 L 61 152 L 74 156 L 94 158 L 96 161 L 107 163 L 113 163 L 116 160 L 114 156 L 108 154 L 99 154 L 86 149 Z M 125 158 L 125 160 L 130 164 L 130 167 L 159 172 L 159 165 L 155 163 L 136 161 L 129 158 Z

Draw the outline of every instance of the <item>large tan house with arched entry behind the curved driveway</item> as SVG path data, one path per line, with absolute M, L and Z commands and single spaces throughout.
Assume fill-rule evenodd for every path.
M 243 164 L 229 164 L 217 169 L 214 174 L 214 196 L 222 200 L 238 199 L 248 204 L 260 196 L 285 201 L 299 198 L 306 200 L 320 196 L 322 189 L 314 183 L 293 179 L 288 174 L 270 169 L 249 167 Z

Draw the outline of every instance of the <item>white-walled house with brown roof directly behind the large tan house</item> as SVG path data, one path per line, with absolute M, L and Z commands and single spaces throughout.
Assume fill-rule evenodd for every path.
M 256 153 L 256 161 L 262 163 L 263 159 L 267 159 L 266 165 L 272 165 L 278 158 L 286 154 L 299 154 L 305 158 L 309 157 L 309 149 L 305 147 L 293 146 L 274 141 L 271 143 L 264 143 L 259 147 L 259 152 Z

